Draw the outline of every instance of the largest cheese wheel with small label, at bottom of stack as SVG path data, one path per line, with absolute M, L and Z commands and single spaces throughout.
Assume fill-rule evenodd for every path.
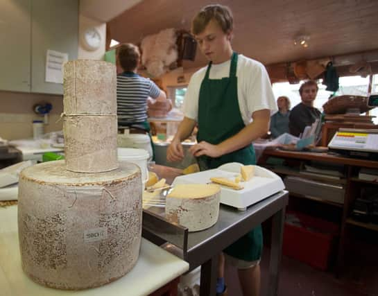
M 108 173 L 73 173 L 64 161 L 19 176 L 22 268 L 39 284 L 83 289 L 125 275 L 141 243 L 141 172 L 123 162 Z

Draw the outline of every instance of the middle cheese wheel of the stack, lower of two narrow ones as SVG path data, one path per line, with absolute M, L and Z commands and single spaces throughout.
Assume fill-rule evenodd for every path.
M 64 116 L 67 170 L 101 173 L 118 168 L 117 116 Z

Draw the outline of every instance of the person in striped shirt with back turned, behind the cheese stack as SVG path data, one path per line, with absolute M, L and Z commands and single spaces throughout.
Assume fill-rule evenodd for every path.
M 147 122 L 147 102 L 164 101 L 166 95 L 155 82 L 137 74 L 140 53 L 137 46 L 126 43 L 117 47 L 117 116 L 118 128 L 143 126 L 150 130 Z

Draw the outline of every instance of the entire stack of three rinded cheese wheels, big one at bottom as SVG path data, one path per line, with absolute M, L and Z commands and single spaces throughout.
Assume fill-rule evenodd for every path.
M 39 284 L 101 286 L 137 262 L 141 171 L 117 162 L 115 75 L 115 66 L 106 62 L 65 65 L 66 159 L 20 173 L 22 268 Z

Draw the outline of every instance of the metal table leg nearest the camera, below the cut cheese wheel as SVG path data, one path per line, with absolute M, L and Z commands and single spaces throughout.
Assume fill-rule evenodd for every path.
M 216 254 L 201 265 L 200 296 L 216 295 L 216 278 L 218 275 L 218 257 Z

